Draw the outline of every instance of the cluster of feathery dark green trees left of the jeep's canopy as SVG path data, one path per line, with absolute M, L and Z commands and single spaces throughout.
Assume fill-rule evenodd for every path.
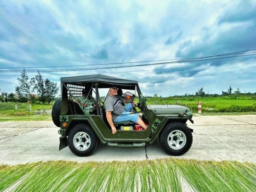
M 49 79 L 43 79 L 43 76 L 38 71 L 38 74 L 29 79 L 26 70 L 23 69 L 20 77 L 17 78 L 18 85 L 15 87 L 14 93 L 10 93 L 6 98 L 9 102 L 35 102 L 39 101 L 43 104 L 49 104 L 55 99 L 55 95 L 58 93 L 59 88 L 57 83 L 50 81 Z M 2 100 L 3 98 L 0 98 Z

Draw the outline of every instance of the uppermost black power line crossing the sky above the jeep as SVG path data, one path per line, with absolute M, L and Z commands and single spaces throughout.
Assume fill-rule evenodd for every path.
M 211 55 L 211 56 L 205 56 L 205 57 L 195 57 L 195 58 L 180 58 L 180 59 L 165 59 L 165 60 L 153 60 L 153 61 L 133 61 L 133 62 L 120 62 L 120 63 L 105 63 L 105 64 L 86 64 L 86 65 L 73 65 L 73 66 L 49 66 L 49 67 L 0 67 L 0 69 L 27 69 L 27 68 L 57 68 L 57 67 L 82 67 L 82 66 L 99 66 L 99 65 L 115 65 L 115 64 L 133 64 L 133 63 L 145 63 L 145 62 L 158 62 L 158 61 L 190 61 L 190 60 L 196 60 L 196 59 L 202 59 L 202 58 L 213 58 L 213 57 L 220 57 L 225 55 L 236 55 L 236 54 L 244 54 L 245 52 L 249 53 L 255 53 L 252 51 L 255 51 L 256 49 L 249 49 L 245 51 L 239 51 L 239 52 L 231 52 L 226 54 L 220 54 L 220 55 Z M 168 62 L 166 62 L 168 63 Z

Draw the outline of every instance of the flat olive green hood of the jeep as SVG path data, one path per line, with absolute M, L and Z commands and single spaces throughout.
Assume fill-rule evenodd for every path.
M 189 108 L 180 105 L 148 105 L 148 108 L 152 109 L 157 114 L 186 114 L 190 112 Z

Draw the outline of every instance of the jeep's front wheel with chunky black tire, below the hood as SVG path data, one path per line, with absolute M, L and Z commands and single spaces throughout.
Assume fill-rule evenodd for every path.
M 180 148 L 174 144 L 175 138 L 177 139 L 177 143 L 179 143 L 180 140 L 180 143 L 178 144 L 180 145 Z M 193 137 L 190 129 L 185 124 L 174 122 L 163 128 L 163 131 L 159 135 L 159 141 L 167 154 L 179 156 L 185 154 L 189 150 L 193 142 Z

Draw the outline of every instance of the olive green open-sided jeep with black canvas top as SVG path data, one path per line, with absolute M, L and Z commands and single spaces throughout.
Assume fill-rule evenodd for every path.
M 148 125 L 146 130 L 134 122 L 118 122 L 114 123 L 116 134 L 112 134 L 104 108 L 104 98 L 111 84 L 134 92 L 139 97 L 139 111 L 135 113 L 140 113 Z M 89 89 L 96 99 L 96 108 L 89 114 L 73 102 L 73 99 L 81 96 L 84 88 Z M 53 105 L 52 120 L 60 127 L 59 150 L 69 146 L 78 156 L 92 154 L 100 142 L 108 146 L 143 147 L 157 139 L 166 153 L 182 155 L 189 150 L 193 140 L 193 130 L 186 125 L 187 120 L 193 123 L 189 108 L 180 105 L 147 105 L 137 81 L 101 74 L 62 77 L 61 98 Z

